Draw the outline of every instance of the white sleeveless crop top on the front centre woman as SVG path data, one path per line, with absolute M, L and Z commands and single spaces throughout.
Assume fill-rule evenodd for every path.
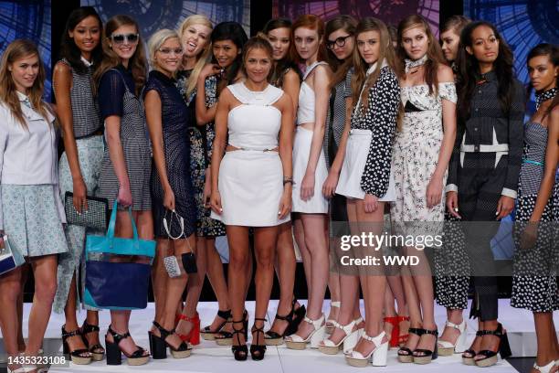
M 244 82 L 227 86 L 241 102 L 227 116 L 229 144 L 242 150 L 263 151 L 278 146 L 281 112 L 274 102 L 283 91 L 269 84 L 264 91 L 250 91 Z

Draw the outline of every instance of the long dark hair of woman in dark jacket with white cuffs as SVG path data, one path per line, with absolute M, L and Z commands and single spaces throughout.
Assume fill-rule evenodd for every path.
M 466 123 L 469 119 L 471 97 L 473 96 L 473 92 L 476 89 L 478 81 L 481 79 L 480 64 L 478 59 L 476 59 L 473 54 L 470 55 L 467 52 L 466 47 L 473 47 L 471 35 L 476 28 L 482 26 L 490 27 L 493 31 L 493 35 L 495 35 L 499 41 L 499 52 L 497 59 L 493 62 L 493 71 L 495 71 L 495 74 L 497 75 L 497 84 L 499 86 L 498 96 L 501 104 L 501 111 L 505 115 L 509 115 L 509 112 L 511 112 L 513 89 L 512 80 L 514 78 L 512 50 L 501 37 L 497 27 L 492 25 L 490 22 L 471 22 L 464 27 L 462 33 L 460 34 L 460 44 L 457 56 L 457 65 L 459 68 L 457 81 L 459 93 L 458 112 L 460 123 Z

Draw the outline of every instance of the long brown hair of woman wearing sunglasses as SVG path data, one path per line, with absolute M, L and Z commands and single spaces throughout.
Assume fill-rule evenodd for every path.
M 109 47 L 110 39 L 112 33 L 121 26 L 133 26 L 136 27 L 136 32 L 140 35 L 140 27 L 138 23 L 130 16 L 112 16 L 107 24 L 105 25 L 105 37 L 103 38 L 103 59 L 101 60 L 100 67 L 95 71 L 93 75 L 93 80 L 96 85 L 99 84 L 100 78 L 109 69 L 116 68 L 121 64 L 121 59 L 119 56 Z M 128 61 L 128 66 L 132 69 L 132 79 L 134 80 L 135 93 L 137 96 L 140 95 L 142 91 L 143 84 L 145 83 L 145 77 L 147 75 L 147 60 L 145 58 L 145 50 L 143 48 L 142 36 L 138 38 L 138 45 L 136 46 L 136 51 L 132 55 L 132 58 Z

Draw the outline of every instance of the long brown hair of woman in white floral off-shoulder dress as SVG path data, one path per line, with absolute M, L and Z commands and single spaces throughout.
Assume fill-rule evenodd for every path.
M 427 23 L 427 20 L 423 16 L 411 15 L 406 16 L 400 24 L 398 25 L 398 55 L 402 61 L 402 69 L 404 68 L 404 61 L 407 57 L 406 49 L 402 47 L 402 35 L 404 31 L 409 28 L 423 27 L 425 34 L 427 35 L 427 41 L 429 46 L 427 47 L 427 61 L 425 62 L 425 82 L 429 87 L 429 94 L 437 94 L 438 92 L 438 65 L 446 65 L 445 59 L 443 57 L 442 49 L 438 45 L 438 40 L 435 38 L 431 32 L 431 28 Z

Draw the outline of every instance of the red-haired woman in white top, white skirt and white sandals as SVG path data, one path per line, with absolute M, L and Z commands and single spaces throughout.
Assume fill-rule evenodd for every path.
M 293 144 L 293 212 L 297 244 L 301 249 L 309 302 L 304 323 L 285 338 L 292 349 L 304 349 L 307 343 L 318 347 L 324 338 L 322 303 L 328 282 L 327 213 L 328 201 L 322 185 L 328 176 L 322 150 L 330 77 L 332 70 L 323 43 L 324 23 L 318 16 L 300 16 L 291 27 L 298 62 L 306 65 L 299 93 L 297 132 Z M 301 235 L 302 233 L 302 235 Z M 301 244 L 300 244 L 301 242 Z M 317 333 L 318 332 L 318 333 Z

